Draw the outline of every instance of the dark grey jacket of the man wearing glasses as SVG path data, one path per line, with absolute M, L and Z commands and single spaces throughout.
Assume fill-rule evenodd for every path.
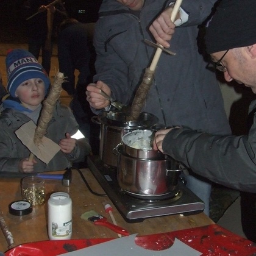
M 236 190 L 256 193 L 256 101 L 249 112 L 254 123 L 248 135 L 218 136 L 190 129 L 173 129 L 163 151 L 197 174 Z

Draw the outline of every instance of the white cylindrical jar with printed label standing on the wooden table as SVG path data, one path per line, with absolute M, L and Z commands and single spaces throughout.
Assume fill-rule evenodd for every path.
M 72 200 L 68 193 L 53 193 L 48 200 L 49 240 L 68 240 L 71 235 Z

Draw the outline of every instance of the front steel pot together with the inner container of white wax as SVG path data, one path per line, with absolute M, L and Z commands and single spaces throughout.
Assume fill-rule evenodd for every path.
M 152 149 L 154 131 L 137 129 L 123 135 L 115 149 L 118 155 L 118 184 L 134 197 L 174 197 L 179 192 L 183 166 Z

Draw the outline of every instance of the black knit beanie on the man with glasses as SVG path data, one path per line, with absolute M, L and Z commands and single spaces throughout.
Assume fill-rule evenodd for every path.
M 221 0 L 208 23 L 208 54 L 256 43 L 256 0 Z

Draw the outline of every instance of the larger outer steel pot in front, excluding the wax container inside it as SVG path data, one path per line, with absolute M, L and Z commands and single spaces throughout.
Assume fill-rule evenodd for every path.
M 118 154 L 118 183 L 123 190 L 135 197 L 177 193 L 179 176 L 184 170 L 179 162 L 169 157 L 162 160 L 130 157 L 123 143 L 115 151 Z

